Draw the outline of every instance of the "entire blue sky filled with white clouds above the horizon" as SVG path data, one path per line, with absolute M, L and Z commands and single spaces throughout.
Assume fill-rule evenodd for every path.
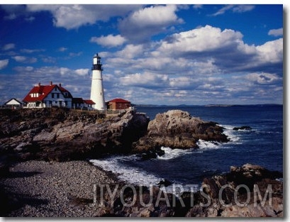
M 0 5 L 0 104 L 35 84 L 89 99 L 102 58 L 106 101 L 283 103 L 283 6 Z

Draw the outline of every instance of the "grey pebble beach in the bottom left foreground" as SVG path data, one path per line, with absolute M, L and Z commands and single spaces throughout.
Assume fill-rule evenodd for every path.
M 0 216 L 99 216 L 94 184 L 114 183 L 113 174 L 85 161 L 21 162 L 0 178 Z

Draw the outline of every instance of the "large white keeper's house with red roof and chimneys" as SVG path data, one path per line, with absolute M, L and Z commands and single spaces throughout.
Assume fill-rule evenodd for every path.
M 45 107 L 72 108 L 72 94 L 61 84 L 41 85 L 33 87 L 23 99 L 23 108 Z

